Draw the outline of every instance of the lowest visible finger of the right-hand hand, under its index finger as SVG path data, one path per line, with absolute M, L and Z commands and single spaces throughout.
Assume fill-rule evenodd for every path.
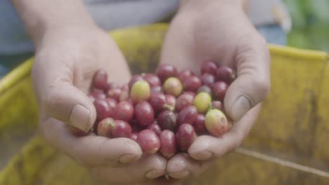
M 186 179 L 188 177 L 198 177 L 209 168 L 214 161 L 198 161 L 188 156 L 186 153 L 178 153 L 173 156 L 167 164 L 167 172 L 174 179 Z

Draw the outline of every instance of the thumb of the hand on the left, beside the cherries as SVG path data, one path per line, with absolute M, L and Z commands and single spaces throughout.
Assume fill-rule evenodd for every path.
M 53 118 L 88 132 L 96 120 L 96 109 L 89 97 L 72 83 L 59 81 L 42 95 L 41 107 Z

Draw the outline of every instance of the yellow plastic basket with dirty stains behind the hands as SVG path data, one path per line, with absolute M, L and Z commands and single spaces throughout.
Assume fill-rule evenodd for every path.
M 133 73 L 141 73 L 157 66 L 166 31 L 158 24 L 110 34 Z M 329 184 L 328 54 L 269 48 L 271 93 L 250 135 L 186 184 Z M 32 62 L 0 81 L 0 184 L 101 184 L 38 135 Z

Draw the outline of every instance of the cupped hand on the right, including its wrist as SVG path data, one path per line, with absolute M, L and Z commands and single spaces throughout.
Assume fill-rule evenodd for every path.
M 236 80 L 224 99 L 233 128 L 221 137 L 200 136 L 167 164 L 176 179 L 198 175 L 218 158 L 235 149 L 257 119 L 260 102 L 270 89 L 270 58 L 266 41 L 243 11 L 243 1 L 181 1 L 162 48 L 162 63 L 198 74 L 205 60 L 236 70 Z M 205 161 L 205 162 L 202 162 Z

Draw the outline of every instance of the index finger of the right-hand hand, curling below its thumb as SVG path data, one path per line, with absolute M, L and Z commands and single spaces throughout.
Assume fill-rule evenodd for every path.
M 260 104 L 252 108 L 240 121 L 233 124 L 229 132 L 221 137 L 202 135 L 188 149 L 188 153 L 195 160 L 209 160 L 222 156 L 224 153 L 236 149 L 247 136 L 257 119 Z

